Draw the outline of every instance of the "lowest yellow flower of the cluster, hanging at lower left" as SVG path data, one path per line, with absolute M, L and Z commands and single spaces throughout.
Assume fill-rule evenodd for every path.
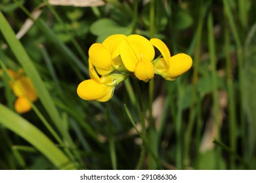
M 114 90 L 120 82 L 127 78 L 127 75 L 112 74 L 98 76 L 95 67 L 89 59 L 89 73 L 91 79 L 84 80 L 77 87 L 77 94 L 87 101 L 105 102 L 112 98 Z

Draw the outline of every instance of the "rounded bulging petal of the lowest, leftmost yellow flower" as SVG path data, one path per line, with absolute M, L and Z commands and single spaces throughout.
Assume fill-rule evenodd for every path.
M 95 80 L 84 80 L 81 82 L 77 87 L 77 94 L 84 100 L 91 101 L 91 100 L 108 100 L 109 93 L 113 92 L 113 87 L 106 86 L 105 84 L 100 84 Z M 106 99 L 106 96 L 107 99 Z

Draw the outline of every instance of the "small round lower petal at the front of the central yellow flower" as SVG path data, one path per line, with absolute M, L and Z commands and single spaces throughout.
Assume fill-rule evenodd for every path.
M 154 77 L 153 63 L 151 61 L 141 61 L 135 69 L 135 76 L 139 80 L 144 80 L 144 82 L 152 79 Z

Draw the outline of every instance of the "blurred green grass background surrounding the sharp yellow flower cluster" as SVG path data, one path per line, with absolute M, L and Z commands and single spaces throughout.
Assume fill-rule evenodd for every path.
M 254 10 L 253 0 L 2 0 L 0 169 L 256 169 Z M 76 93 L 89 47 L 116 33 L 193 59 L 177 80 L 139 82 L 143 141 L 133 78 L 106 103 Z M 17 82 L 37 95 L 28 112 L 14 108 Z

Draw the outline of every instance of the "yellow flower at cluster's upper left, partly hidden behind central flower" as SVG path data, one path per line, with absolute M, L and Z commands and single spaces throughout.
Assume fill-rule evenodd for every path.
M 89 48 L 89 59 L 100 75 L 108 75 L 114 70 L 123 71 L 123 63 L 119 56 L 119 44 L 125 39 L 125 35 L 112 35 L 102 44 L 95 43 Z

